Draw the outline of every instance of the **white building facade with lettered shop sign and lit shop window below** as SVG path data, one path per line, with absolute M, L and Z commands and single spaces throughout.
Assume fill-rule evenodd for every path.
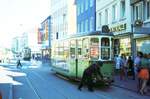
M 114 33 L 114 55 L 131 55 L 130 0 L 96 0 L 96 30 L 108 25 Z

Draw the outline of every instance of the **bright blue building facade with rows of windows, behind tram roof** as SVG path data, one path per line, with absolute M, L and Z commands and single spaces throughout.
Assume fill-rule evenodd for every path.
M 96 30 L 96 0 L 76 0 L 77 33 Z

